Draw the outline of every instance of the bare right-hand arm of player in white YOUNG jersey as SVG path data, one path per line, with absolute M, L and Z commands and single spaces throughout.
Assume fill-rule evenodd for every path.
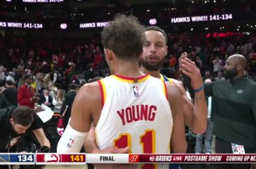
M 172 110 L 173 127 L 171 152 L 185 153 L 188 143 L 185 139 L 185 123 L 183 119 L 183 99 L 177 86 L 167 83 L 168 101 Z

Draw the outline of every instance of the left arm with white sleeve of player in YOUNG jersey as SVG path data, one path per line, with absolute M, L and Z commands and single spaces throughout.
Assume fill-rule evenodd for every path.
M 62 135 L 57 152 L 80 152 L 88 135 L 91 123 L 96 126 L 101 112 L 100 87 L 97 82 L 89 83 L 75 96 L 71 110 L 71 121 Z M 75 144 L 68 141 L 73 139 Z M 69 144 L 68 146 L 66 146 Z

